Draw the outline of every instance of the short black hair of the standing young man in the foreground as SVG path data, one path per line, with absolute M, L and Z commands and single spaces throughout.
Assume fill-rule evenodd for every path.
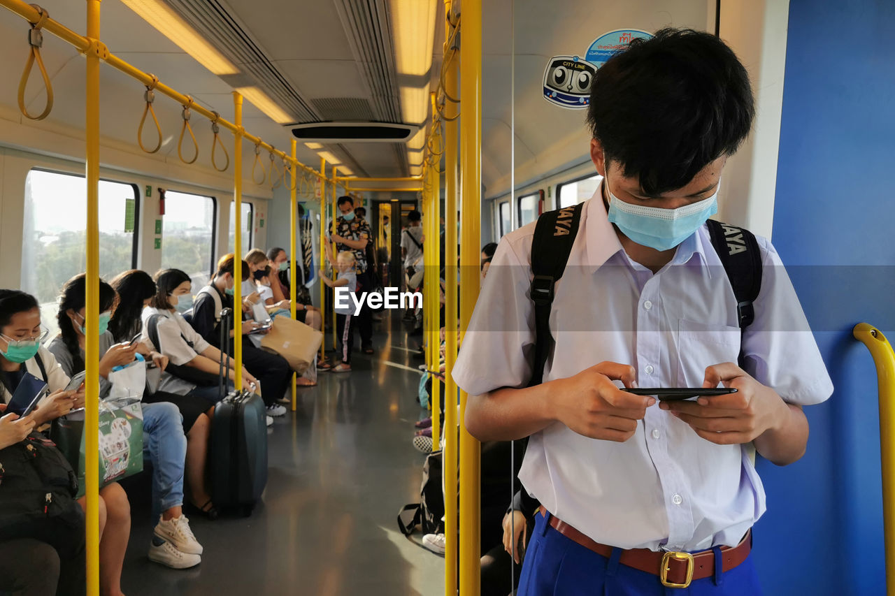
M 733 50 L 709 33 L 669 28 L 601 66 L 587 123 L 607 168 L 618 163 L 653 197 L 735 153 L 754 114 L 749 74 Z

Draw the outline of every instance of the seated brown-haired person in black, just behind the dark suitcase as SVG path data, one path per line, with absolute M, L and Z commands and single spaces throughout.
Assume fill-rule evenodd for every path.
M 263 252 L 261 254 L 264 254 Z M 265 261 L 267 257 L 264 257 Z M 240 271 L 235 271 L 238 262 Z M 202 339 L 209 345 L 224 350 L 233 355 L 234 341 L 243 342 L 243 366 L 248 370 L 252 378 L 260 381 L 261 399 L 267 405 L 268 416 L 277 417 L 286 415 L 286 408 L 277 404 L 277 400 L 286 396 L 286 388 L 292 379 L 292 369 L 289 362 L 283 356 L 269 353 L 255 347 L 249 340 L 249 334 L 258 327 L 252 319 L 243 320 L 236 317 L 234 328 L 230 329 L 230 337 L 227 345 L 220 344 L 220 309 L 233 308 L 234 288 L 238 283 L 236 277 L 242 281 L 249 278 L 249 266 L 244 260 L 236 261 L 234 254 L 226 254 L 217 261 L 217 272 L 211 278 L 211 282 L 196 296 L 196 303 L 192 309 L 192 328 L 196 330 Z M 235 311 L 236 314 L 239 311 Z M 236 337 L 239 337 L 236 339 Z M 244 379 L 244 378 L 243 378 Z

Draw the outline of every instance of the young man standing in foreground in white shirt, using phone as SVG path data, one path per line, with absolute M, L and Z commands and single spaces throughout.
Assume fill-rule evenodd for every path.
M 474 436 L 531 436 L 519 479 L 542 507 L 522 596 L 761 593 L 751 446 L 795 462 L 802 405 L 832 385 L 771 243 L 758 239 L 761 290 L 741 336 L 705 226 L 753 115 L 746 69 L 707 33 L 661 30 L 601 67 L 588 123 L 604 180 L 555 286 L 555 345 L 532 387 L 534 224 L 499 244 L 454 379 Z M 659 404 L 621 385 L 737 393 Z

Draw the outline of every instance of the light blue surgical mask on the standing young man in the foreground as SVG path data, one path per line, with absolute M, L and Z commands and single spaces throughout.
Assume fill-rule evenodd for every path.
M 604 179 L 606 190 L 609 184 Z M 632 205 L 609 191 L 609 222 L 618 226 L 628 238 L 656 251 L 669 251 L 684 242 L 718 213 L 718 192 L 678 209 L 661 209 Z

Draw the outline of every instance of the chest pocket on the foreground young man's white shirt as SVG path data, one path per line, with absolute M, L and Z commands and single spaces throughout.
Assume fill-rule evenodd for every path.
M 720 362 L 737 362 L 737 327 L 678 319 L 678 385 L 702 387 L 705 369 Z

